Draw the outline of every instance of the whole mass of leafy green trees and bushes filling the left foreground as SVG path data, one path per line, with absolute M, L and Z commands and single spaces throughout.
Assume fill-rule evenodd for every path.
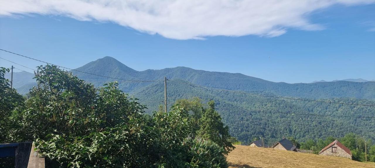
M 46 167 L 222 168 L 234 149 L 228 126 L 200 102 L 145 114 L 118 84 L 95 88 L 56 66 L 39 66 L 28 99 L 0 69 L 0 143 L 33 141 Z M 1 158 L 9 168 L 13 158 Z

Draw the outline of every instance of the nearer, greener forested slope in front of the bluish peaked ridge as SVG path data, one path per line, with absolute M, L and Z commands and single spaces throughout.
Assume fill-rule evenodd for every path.
M 154 111 L 158 105 L 162 105 L 163 94 L 163 83 L 151 84 L 130 93 L 130 95 L 136 95 L 140 102 L 148 106 L 148 112 Z M 224 123 L 229 126 L 231 135 L 244 143 L 251 142 L 255 137 L 266 137 L 267 143 L 272 144 L 273 141 L 277 141 L 283 136 L 293 136 L 303 141 L 329 136 L 342 137 L 350 132 L 375 140 L 374 119 L 286 114 L 309 113 L 375 117 L 375 107 L 252 96 L 202 88 L 182 80 L 168 81 L 167 97 L 169 107 L 175 100 L 182 98 L 200 97 L 203 102 L 214 100 L 216 110 L 219 111 Z M 375 105 L 372 100 L 355 98 L 319 100 Z

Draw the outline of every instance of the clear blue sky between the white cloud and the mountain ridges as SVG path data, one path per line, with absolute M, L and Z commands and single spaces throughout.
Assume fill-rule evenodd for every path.
M 304 17 L 320 28 L 284 25 L 276 35 L 269 35 L 271 30 L 227 32 L 219 27 L 179 32 L 174 28 L 168 33 L 176 33 L 168 34 L 111 20 L 16 13 L 0 16 L 0 48 L 69 68 L 111 56 L 138 71 L 186 66 L 287 83 L 375 80 L 374 4 L 333 4 Z M 32 68 L 41 65 L 2 51 L 0 57 Z M 0 66 L 11 65 L 0 60 Z

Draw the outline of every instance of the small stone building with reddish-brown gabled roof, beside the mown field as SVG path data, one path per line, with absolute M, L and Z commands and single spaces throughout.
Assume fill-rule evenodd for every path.
M 320 152 L 319 155 L 326 155 L 326 156 L 339 156 L 342 158 L 350 158 L 352 159 L 352 153 L 350 149 L 340 143 L 338 140 L 333 141 L 328 146 L 324 147 Z

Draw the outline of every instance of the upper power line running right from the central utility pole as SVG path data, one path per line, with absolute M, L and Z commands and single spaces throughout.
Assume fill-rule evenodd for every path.
M 180 81 L 176 81 L 180 82 Z M 182 83 L 182 82 L 180 82 Z M 222 91 L 229 91 L 233 93 L 242 93 L 242 94 L 250 94 L 254 96 L 264 96 L 264 97 L 273 97 L 273 98 L 279 98 L 279 99 L 290 99 L 290 100 L 302 100 L 302 101 L 309 101 L 309 102 L 320 102 L 320 103 L 334 103 L 334 104 L 342 104 L 342 105 L 357 105 L 357 106 L 371 106 L 375 107 L 375 105 L 366 105 L 366 104 L 356 104 L 356 103 L 341 103 L 341 102 L 327 102 L 327 101 L 320 101 L 320 100 L 308 100 L 308 99 L 298 99 L 298 98 L 291 98 L 291 97 L 281 97 L 281 96 L 268 96 L 264 94 L 256 94 L 256 93 L 247 93 L 243 91 L 236 91 L 236 90 L 228 90 L 228 89 L 221 89 L 221 88 L 214 88 L 214 87 L 208 87 L 208 86 L 202 86 L 202 85 L 196 85 L 192 83 L 187 83 L 189 85 L 197 86 L 197 87 L 204 87 L 204 88 L 210 88 L 210 89 L 216 89 L 216 90 L 222 90 Z

